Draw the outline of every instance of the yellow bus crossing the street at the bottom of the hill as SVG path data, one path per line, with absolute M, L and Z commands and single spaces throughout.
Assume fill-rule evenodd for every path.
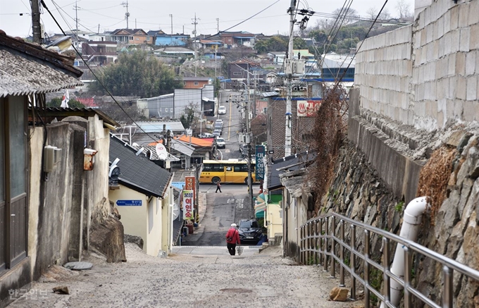
M 254 177 L 254 160 L 251 161 L 251 176 Z M 248 162 L 239 159 L 223 161 L 203 161 L 203 171 L 199 175 L 199 183 L 248 183 Z

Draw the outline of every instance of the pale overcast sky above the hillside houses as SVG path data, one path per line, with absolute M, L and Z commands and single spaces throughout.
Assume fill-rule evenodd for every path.
M 127 27 L 126 1 L 77 0 L 77 10 L 75 11 L 75 0 L 44 0 L 64 31 L 75 29 L 75 14 L 77 14 L 78 29 L 92 32 Z M 389 0 L 386 5 L 392 17 L 398 15 L 395 8 L 397 1 Z M 413 0 L 405 1 L 411 6 L 412 11 Z M 343 1 L 300 0 L 299 8 L 306 8 L 318 13 L 331 13 L 336 8 L 340 8 L 343 3 Z M 361 17 L 366 18 L 368 8 L 374 7 L 379 10 L 382 4 L 384 4 L 382 0 L 355 0 L 351 7 L 356 9 Z M 130 29 L 141 28 L 145 31 L 161 29 L 169 34 L 173 20 L 173 33 L 184 32 L 191 35 L 194 30 L 193 23 L 196 14 L 198 34 L 215 34 L 218 25 L 220 31 L 232 27 L 229 31 L 247 31 L 264 35 L 287 34 L 289 24 L 287 8 L 289 6 L 290 0 L 128 0 L 128 13 L 130 13 L 128 27 Z M 251 18 L 251 16 L 254 17 Z M 41 18 L 45 32 L 49 35 L 61 33 L 45 9 L 42 9 Z M 301 16 L 297 19 L 300 18 Z M 311 17 L 308 26 L 315 25 L 319 18 L 321 17 Z M 238 23 L 241 24 L 235 26 Z M 298 27 L 294 29 L 296 31 Z M 11 36 L 27 37 L 31 35 L 30 1 L 0 0 L 0 30 L 4 30 L 7 35 Z

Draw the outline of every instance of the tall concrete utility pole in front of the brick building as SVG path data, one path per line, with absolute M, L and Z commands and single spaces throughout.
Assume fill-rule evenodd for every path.
M 287 10 L 287 13 L 290 13 L 290 40 L 288 42 L 287 48 L 287 61 L 286 61 L 286 87 L 287 87 L 287 94 L 286 94 L 286 125 L 285 125 L 285 156 L 291 155 L 291 121 L 292 121 L 292 91 L 291 91 L 291 84 L 292 78 L 294 74 L 294 61 L 293 61 L 293 29 L 294 23 L 296 20 L 294 19 L 294 11 L 296 11 L 296 0 L 291 0 L 291 6 Z

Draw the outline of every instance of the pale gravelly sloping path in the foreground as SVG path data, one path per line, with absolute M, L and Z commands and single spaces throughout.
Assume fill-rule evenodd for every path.
M 52 266 L 32 284 L 28 295 L 9 307 L 356 307 L 358 303 L 330 302 L 329 278 L 318 266 L 297 266 L 280 257 L 279 247 L 260 254 L 173 254 L 162 259 L 126 244 L 127 262 L 108 264 L 90 255 L 89 271 Z M 52 288 L 66 285 L 70 295 Z

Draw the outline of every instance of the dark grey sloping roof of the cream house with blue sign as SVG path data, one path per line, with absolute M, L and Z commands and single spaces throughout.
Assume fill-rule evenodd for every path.
M 136 150 L 111 135 L 110 161 L 120 159 L 118 182 L 145 195 L 165 197 L 172 174 L 147 159 L 144 154 L 135 155 Z

